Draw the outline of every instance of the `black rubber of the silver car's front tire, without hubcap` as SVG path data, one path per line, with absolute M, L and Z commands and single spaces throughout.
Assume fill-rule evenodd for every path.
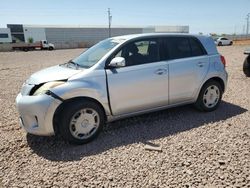
M 69 125 L 70 125 L 72 116 L 77 111 L 83 108 L 94 109 L 99 114 L 100 124 L 96 132 L 91 137 L 87 139 L 77 139 L 71 134 Z M 62 137 L 71 144 L 85 144 L 85 143 L 92 141 L 94 138 L 96 138 L 98 134 L 100 133 L 100 131 L 102 130 L 103 125 L 104 125 L 104 112 L 101 109 L 101 107 L 94 102 L 86 101 L 86 100 L 77 100 L 77 101 L 72 101 L 70 103 L 67 103 L 64 106 L 60 119 L 61 119 L 61 123 L 59 125 L 59 131 Z

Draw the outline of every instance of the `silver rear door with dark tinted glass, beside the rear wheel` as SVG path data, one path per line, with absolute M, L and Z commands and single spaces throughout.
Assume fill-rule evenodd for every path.
M 168 37 L 169 104 L 193 100 L 208 68 L 209 58 L 198 39 Z

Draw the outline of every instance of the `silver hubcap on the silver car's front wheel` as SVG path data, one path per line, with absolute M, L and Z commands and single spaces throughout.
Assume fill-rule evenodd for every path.
M 84 108 L 72 116 L 70 132 L 77 139 L 87 139 L 96 132 L 99 123 L 99 114 L 94 109 Z

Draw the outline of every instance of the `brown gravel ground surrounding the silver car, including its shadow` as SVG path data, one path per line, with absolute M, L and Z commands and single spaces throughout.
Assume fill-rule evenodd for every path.
M 27 135 L 15 97 L 29 75 L 82 49 L 0 53 L 0 187 L 250 187 L 246 46 L 220 47 L 229 83 L 218 110 L 177 107 L 108 124 L 93 142 Z M 162 152 L 145 150 L 147 144 Z

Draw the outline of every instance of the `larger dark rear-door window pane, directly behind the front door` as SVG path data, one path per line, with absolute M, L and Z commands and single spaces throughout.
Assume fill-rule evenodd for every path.
M 180 59 L 192 56 L 192 50 L 187 37 L 169 37 L 165 44 L 168 50 L 168 59 Z

